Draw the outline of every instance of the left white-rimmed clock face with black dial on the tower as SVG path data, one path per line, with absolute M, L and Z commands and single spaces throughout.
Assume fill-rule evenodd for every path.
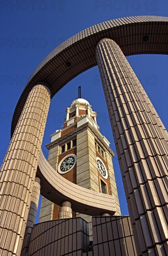
M 70 170 L 72 170 L 75 164 L 76 164 L 76 155 L 74 154 L 66 155 L 58 165 L 58 172 L 60 174 L 65 174 Z

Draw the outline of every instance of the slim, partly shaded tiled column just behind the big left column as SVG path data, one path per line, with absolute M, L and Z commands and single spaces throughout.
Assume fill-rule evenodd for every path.
M 25 235 L 24 235 L 22 249 L 21 249 L 21 256 L 25 256 L 29 248 L 30 236 L 32 233 L 33 225 L 35 223 L 35 218 L 36 218 L 36 213 L 37 213 L 37 208 L 39 203 L 39 196 L 40 196 L 40 179 L 36 177 L 32 196 L 31 196 L 30 209 L 28 211 L 26 230 L 25 230 Z

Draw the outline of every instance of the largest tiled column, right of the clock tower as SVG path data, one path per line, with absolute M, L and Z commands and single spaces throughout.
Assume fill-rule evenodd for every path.
M 137 253 L 166 255 L 167 132 L 120 47 L 102 39 L 96 57 Z

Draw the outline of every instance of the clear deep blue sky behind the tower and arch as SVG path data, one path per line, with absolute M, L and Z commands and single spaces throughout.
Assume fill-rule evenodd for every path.
M 40 62 L 61 42 L 94 24 L 137 15 L 168 16 L 167 0 L 64 0 L 29 1 L 1 0 L 0 40 L 0 163 L 10 142 L 14 109 L 29 76 Z M 130 65 L 161 121 L 168 129 L 168 57 L 166 55 L 135 55 L 127 57 Z M 85 98 L 98 113 L 102 135 L 116 153 L 108 111 L 98 67 L 93 67 L 69 82 L 51 101 L 42 149 L 50 135 L 60 129 L 65 109 L 78 96 L 81 86 Z M 122 215 L 128 215 L 127 202 L 117 156 L 114 171 Z

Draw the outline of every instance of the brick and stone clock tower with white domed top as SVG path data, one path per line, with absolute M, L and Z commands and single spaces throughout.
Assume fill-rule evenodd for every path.
M 99 131 L 96 112 L 84 99 L 76 99 L 66 109 L 67 116 L 62 129 L 51 135 L 48 162 L 64 178 L 97 193 L 114 196 L 116 212 L 121 215 L 116 188 L 112 158 L 114 152 L 109 141 Z M 62 211 L 67 207 L 67 217 L 81 216 L 89 222 L 92 235 L 92 216 L 79 214 L 71 210 L 68 202 L 62 207 L 42 198 L 39 222 L 62 218 Z M 64 216 L 65 217 L 65 216 Z

